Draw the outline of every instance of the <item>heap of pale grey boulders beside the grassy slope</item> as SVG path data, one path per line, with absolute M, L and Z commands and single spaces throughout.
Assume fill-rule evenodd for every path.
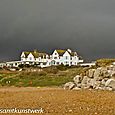
M 85 76 L 76 75 L 73 82 L 64 85 L 64 89 L 96 89 L 115 91 L 115 66 L 89 69 Z

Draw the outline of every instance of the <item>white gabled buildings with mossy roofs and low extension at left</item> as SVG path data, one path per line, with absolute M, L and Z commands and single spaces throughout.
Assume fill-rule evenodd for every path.
M 68 66 L 76 66 L 79 63 L 83 63 L 83 59 L 78 56 L 77 52 L 74 52 L 70 49 L 62 50 L 56 49 L 52 54 L 47 54 L 43 52 L 39 52 L 37 50 L 34 51 L 24 51 L 21 53 L 20 61 L 11 61 L 0 63 L 0 67 L 18 67 L 21 64 L 25 65 L 36 65 L 39 67 L 49 67 L 52 65 L 68 65 Z

